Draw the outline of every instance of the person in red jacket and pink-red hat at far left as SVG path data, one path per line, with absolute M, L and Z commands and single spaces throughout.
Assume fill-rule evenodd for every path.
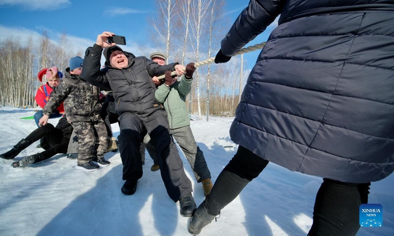
M 42 69 L 40 72 L 38 72 L 38 80 L 42 82 L 42 77 L 46 76 L 46 84 L 41 85 L 38 89 L 37 92 L 35 93 L 35 102 L 43 108 L 45 104 L 49 100 L 49 96 L 51 95 L 51 92 L 60 84 L 60 78 L 63 77 L 62 72 L 58 70 L 58 67 L 52 66 L 50 68 L 45 68 Z M 65 113 L 65 109 L 63 107 L 63 102 L 60 104 L 60 106 L 57 108 L 57 112 L 53 114 L 50 118 L 58 118 L 61 117 Z M 38 121 L 42 117 L 42 110 L 39 110 L 34 114 L 34 121 L 35 124 L 38 126 Z M 39 127 L 39 126 L 38 126 Z

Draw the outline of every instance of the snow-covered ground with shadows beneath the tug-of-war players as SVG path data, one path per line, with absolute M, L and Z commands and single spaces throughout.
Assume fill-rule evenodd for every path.
M 36 128 L 29 109 L 0 108 L 0 153 Z M 52 124 L 58 119 L 50 119 Z M 192 121 L 196 141 L 204 152 L 213 180 L 236 146 L 230 141 L 232 118 L 212 117 Z M 119 135 L 117 124 L 112 126 Z M 38 142 L 15 159 L 42 151 Z M 231 146 L 231 147 L 229 147 Z M 197 206 L 203 201 L 202 186 L 180 152 L 194 185 Z M 0 159 L 0 236 L 187 236 L 188 219 L 179 204 L 166 194 L 159 172 L 146 153 L 144 176 L 137 191 L 126 196 L 120 189 L 122 162 L 119 152 L 105 155 L 108 167 L 87 173 L 76 170 L 76 160 L 58 154 L 28 168 L 12 168 L 14 160 Z M 369 203 L 383 206 L 383 226 L 361 228 L 358 236 L 394 235 L 394 175 L 371 184 Z M 270 163 L 201 236 L 305 236 L 312 224 L 316 192 L 322 179 L 288 171 Z

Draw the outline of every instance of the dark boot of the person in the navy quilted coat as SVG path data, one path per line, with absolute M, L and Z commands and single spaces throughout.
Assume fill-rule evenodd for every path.
M 207 226 L 215 218 L 208 209 L 205 207 L 205 201 L 197 208 L 194 216 L 190 220 L 188 231 L 192 235 L 198 235 L 202 228 Z

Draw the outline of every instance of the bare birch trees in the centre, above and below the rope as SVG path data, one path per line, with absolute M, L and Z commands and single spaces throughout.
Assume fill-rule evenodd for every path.
M 168 62 L 187 64 L 216 56 L 220 40 L 230 29 L 225 0 L 157 0 L 150 19 L 152 42 L 163 48 Z M 233 57 L 225 64 L 207 64 L 194 74 L 187 106 L 199 119 L 205 115 L 233 116 L 240 100 L 243 59 Z

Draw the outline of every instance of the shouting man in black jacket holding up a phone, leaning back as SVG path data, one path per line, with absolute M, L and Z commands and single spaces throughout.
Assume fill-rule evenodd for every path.
M 115 43 L 108 43 L 114 33 L 103 32 L 96 44 L 85 53 L 82 77 L 102 89 L 112 90 L 116 112 L 120 115 L 119 151 L 123 163 L 122 193 L 132 195 L 137 181 L 142 177 L 142 161 L 139 152 L 144 133 L 148 132 L 159 157 L 159 166 L 168 196 L 180 202 L 180 214 L 192 216 L 196 204 L 192 196 L 192 184 L 183 170 L 178 150 L 168 132 L 168 119 L 162 105 L 155 99 L 153 76 L 175 70 L 184 74 L 183 66 L 171 63 L 161 66 L 146 57 L 135 57 L 124 52 Z M 100 71 L 101 52 L 108 64 L 107 71 Z

